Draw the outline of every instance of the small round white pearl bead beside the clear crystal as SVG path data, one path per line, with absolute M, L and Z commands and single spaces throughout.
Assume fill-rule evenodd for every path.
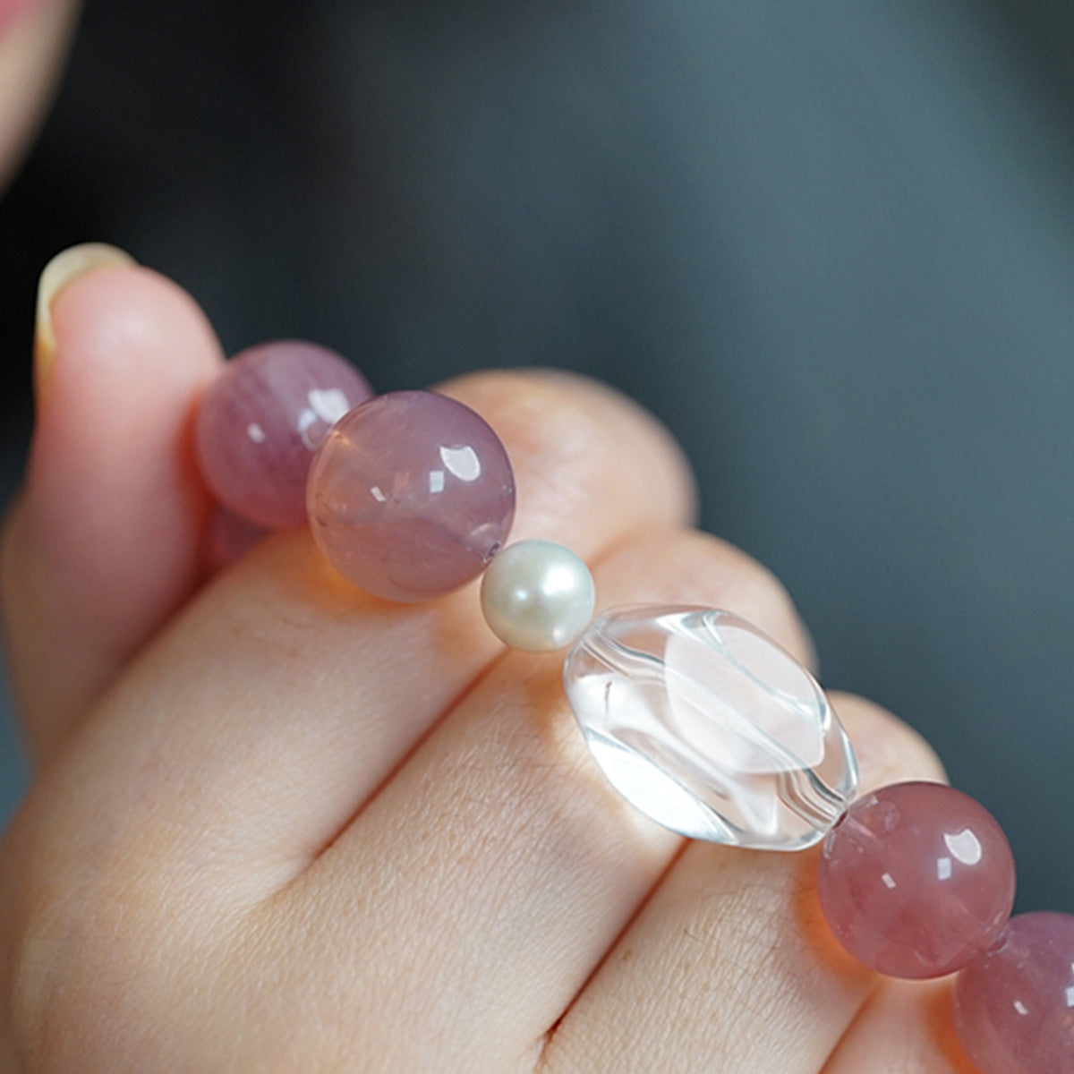
M 481 611 L 500 641 L 527 653 L 575 641 L 593 618 L 590 568 L 550 540 L 508 545 L 481 580 Z

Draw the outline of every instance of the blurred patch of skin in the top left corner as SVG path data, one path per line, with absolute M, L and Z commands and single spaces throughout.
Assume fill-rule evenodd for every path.
M 76 9 L 74 0 L 0 0 L 0 191 L 44 118 Z

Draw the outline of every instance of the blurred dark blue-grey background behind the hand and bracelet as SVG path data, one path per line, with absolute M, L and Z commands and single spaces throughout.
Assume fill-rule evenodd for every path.
M 786 581 L 826 685 L 999 816 L 1019 906 L 1074 911 L 1072 133 L 1045 0 L 90 0 L 0 199 L 0 495 L 37 274 L 87 238 L 229 350 L 596 374 Z

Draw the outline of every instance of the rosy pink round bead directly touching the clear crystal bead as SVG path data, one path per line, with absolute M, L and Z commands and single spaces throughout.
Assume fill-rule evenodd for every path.
M 1014 886 L 1003 829 L 940 783 L 895 783 L 859 798 L 825 837 L 817 870 L 836 938 L 892 977 L 966 966 L 1011 916 Z

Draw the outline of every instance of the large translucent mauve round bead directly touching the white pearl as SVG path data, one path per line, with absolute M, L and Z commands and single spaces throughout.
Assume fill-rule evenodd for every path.
M 468 407 L 391 392 L 332 427 L 307 506 L 345 578 L 389 600 L 425 600 L 476 578 L 503 547 L 514 476 L 499 438 Z

